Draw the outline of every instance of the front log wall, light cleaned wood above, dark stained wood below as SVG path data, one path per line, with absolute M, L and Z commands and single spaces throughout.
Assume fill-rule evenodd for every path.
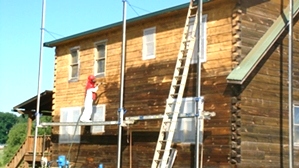
M 207 62 L 202 64 L 201 95 L 205 98 L 205 110 L 216 116 L 205 121 L 204 159 L 207 167 L 230 167 L 230 106 L 231 93 L 226 76 L 231 71 L 232 10 L 235 0 L 217 0 L 204 5 L 208 15 Z M 127 50 L 125 69 L 125 116 L 154 115 L 164 113 L 175 61 L 182 38 L 187 9 L 167 12 L 159 16 L 127 25 Z M 156 27 L 156 58 L 142 60 L 143 29 Z M 99 104 L 106 104 L 106 121 L 117 120 L 119 108 L 119 77 L 121 58 L 121 27 L 93 33 L 80 40 L 68 41 L 56 47 L 54 115 L 58 122 L 60 108 L 83 106 L 86 78 L 93 73 L 94 42 L 107 39 L 106 75 L 97 78 L 106 82 L 98 91 Z M 80 76 L 76 82 L 68 82 L 69 49 L 80 46 Z M 190 69 L 185 96 L 195 96 L 196 67 Z M 122 142 L 122 167 L 147 168 L 150 166 L 160 129 L 160 120 L 140 121 L 124 129 Z M 115 167 L 117 161 L 117 126 L 106 126 L 103 135 L 86 133 L 82 129 L 80 144 L 73 144 L 70 161 L 77 166 L 86 164 Z M 85 131 L 84 131 L 85 130 Z M 69 144 L 58 143 L 58 127 L 53 128 L 53 159 L 68 154 Z M 129 138 L 131 136 L 131 139 Z M 131 144 L 129 143 L 131 142 Z M 194 166 L 194 145 L 175 144 L 178 155 L 174 167 Z M 133 158 L 133 160 L 131 160 Z

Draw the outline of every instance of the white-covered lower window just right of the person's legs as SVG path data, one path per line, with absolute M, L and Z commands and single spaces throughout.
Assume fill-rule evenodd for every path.
M 99 121 L 105 121 L 106 119 L 106 105 L 105 104 L 98 104 L 94 105 L 93 108 L 101 107 L 103 108 L 102 114 L 95 114 L 97 113 L 96 110 L 93 110 L 92 114 L 92 121 L 99 122 Z M 99 116 L 100 115 L 100 116 Z M 99 133 L 104 133 L 105 132 L 105 126 L 91 126 L 90 132 L 92 134 L 99 134 Z M 99 131 L 97 131 L 99 130 Z

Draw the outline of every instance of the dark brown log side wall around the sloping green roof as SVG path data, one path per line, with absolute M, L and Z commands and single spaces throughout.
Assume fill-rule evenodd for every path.
M 234 57 L 237 65 L 269 29 L 287 1 L 240 1 L 237 34 L 239 45 Z M 294 34 L 298 34 L 298 23 Z M 294 60 L 298 60 L 298 41 L 294 40 Z M 294 67 L 297 67 L 294 61 Z M 294 74 L 298 68 L 294 68 Z M 294 76 L 294 100 L 298 101 L 298 77 Z M 234 86 L 233 99 L 237 137 L 232 162 L 238 167 L 288 167 L 288 37 L 287 32 L 257 66 L 254 75 L 241 86 Z M 299 166 L 298 150 L 295 167 Z M 234 157 L 235 156 L 235 157 Z

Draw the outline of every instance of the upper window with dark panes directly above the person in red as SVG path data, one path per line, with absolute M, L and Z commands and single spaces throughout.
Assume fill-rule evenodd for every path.
M 104 76 L 106 69 L 107 40 L 95 43 L 95 76 Z

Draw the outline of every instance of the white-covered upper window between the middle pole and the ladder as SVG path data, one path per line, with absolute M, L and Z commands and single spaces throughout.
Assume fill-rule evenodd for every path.
M 149 34 L 147 34 L 149 32 Z M 147 35 L 152 35 L 152 41 L 148 41 Z M 148 54 L 148 45 L 152 45 L 153 54 Z M 143 29 L 143 37 L 142 37 L 142 60 L 149 60 L 156 58 L 156 27 L 150 27 Z

